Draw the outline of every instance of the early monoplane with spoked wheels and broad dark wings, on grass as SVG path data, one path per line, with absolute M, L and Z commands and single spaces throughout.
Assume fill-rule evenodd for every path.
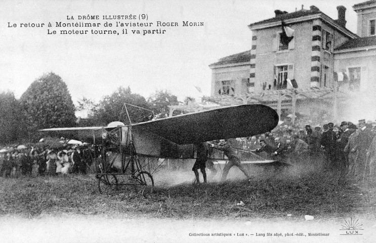
M 151 191 L 159 158 L 192 159 L 196 143 L 266 133 L 277 126 L 278 119 L 276 111 L 268 106 L 246 104 L 130 125 L 115 121 L 106 127 L 40 131 L 81 140 L 92 138 L 94 144 L 100 145 L 100 162 L 96 165 L 100 192 L 130 184 Z

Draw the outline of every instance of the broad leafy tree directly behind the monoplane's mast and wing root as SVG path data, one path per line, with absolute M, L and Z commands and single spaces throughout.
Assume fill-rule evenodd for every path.
M 136 105 L 148 109 L 149 103 L 145 98 L 139 94 L 132 94 L 131 89 L 119 87 L 111 95 L 104 96 L 99 104 L 95 105 L 92 114 L 89 115 L 89 119 L 92 120 L 92 124 L 96 126 L 106 126 L 111 121 L 121 121 L 124 124 L 130 124 L 127 111 L 124 108 L 124 103 Z M 143 120 L 148 113 L 145 110 L 141 110 L 132 106 L 127 106 L 129 116 L 132 123 L 138 123 Z

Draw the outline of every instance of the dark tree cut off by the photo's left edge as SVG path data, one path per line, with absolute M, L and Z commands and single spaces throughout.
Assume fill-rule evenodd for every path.
M 0 143 L 9 144 L 26 138 L 23 112 L 12 92 L 0 93 Z

